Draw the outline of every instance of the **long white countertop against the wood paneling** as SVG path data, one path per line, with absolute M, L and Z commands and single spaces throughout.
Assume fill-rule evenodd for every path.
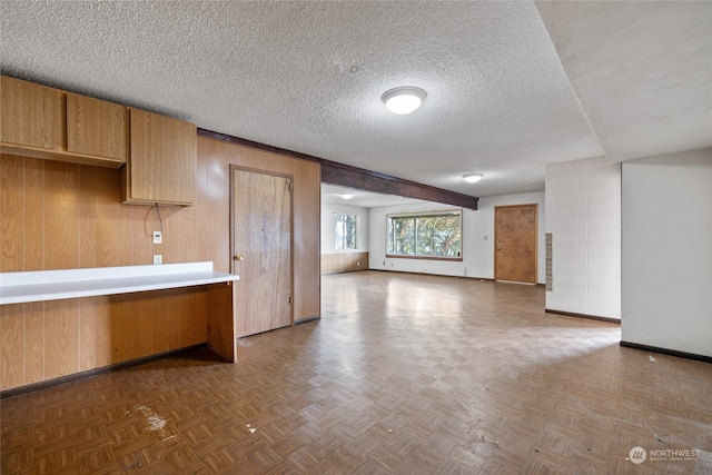
M 191 287 L 239 280 L 212 263 L 0 274 L 0 305 Z

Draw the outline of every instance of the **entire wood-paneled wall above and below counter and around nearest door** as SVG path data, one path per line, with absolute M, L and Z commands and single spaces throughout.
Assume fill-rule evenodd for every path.
M 294 176 L 294 315 L 318 315 L 318 164 L 205 138 L 197 202 L 160 206 L 160 245 L 151 238 L 160 229 L 156 208 L 120 204 L 119 170 L 0 156 L 0 271 L 149 265 L 154 254 L 165 264 L 211 260 L 230 271 L 230 164 Z M 0 306 L 0 388 L 204 343 L 207 294 L 198 287 Z

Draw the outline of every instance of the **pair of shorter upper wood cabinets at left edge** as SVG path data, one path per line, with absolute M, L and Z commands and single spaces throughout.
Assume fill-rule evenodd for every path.
M 0 76 L 4 154 L 118 168 L 126 162 L 126 107 Z

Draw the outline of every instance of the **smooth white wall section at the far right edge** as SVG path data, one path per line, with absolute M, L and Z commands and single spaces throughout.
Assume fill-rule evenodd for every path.
M 712 149 L 623 164 L 623 342 L 712 356 Z

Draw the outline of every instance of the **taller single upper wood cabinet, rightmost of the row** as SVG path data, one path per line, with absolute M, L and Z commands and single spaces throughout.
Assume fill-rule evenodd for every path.
M 130 154 L 121 168 L 123 202 L 192 205 L 196 200 L 195 123 L 129 108 Z

